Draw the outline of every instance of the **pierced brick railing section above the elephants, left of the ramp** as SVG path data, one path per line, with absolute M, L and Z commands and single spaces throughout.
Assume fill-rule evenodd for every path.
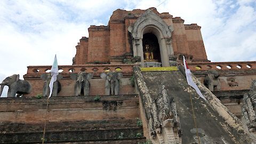
M 120 71 L 132 73 L 132 67 L 137 64 L 116 64 L 116 65 L 66 65 L 59 66 L 59 73 L 103 73 L 106 71 Z M 28 66 L 27 74 L 49 73 L 51 66 Z

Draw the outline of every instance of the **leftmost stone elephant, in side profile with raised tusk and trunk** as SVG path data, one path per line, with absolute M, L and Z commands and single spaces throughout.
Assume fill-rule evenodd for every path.
M 32 91 L 32 86 L 28 81 L 19 79 L 20 75 L 12 75 L 6 77 L 4 81 L 1 83 L 0 96 L 3 92 L 4 86 L 9 86 L 9 90 L 7 93 L 7 97 L 15 97 L 20 96 L 24 93 L 30 93 Z

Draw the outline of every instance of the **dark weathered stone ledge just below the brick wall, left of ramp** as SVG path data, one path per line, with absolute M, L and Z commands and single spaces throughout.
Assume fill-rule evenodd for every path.
M 114 130 L 139 128 L 135 119 L 111 119 L 99 121 L 47 122 L 46 131 Z M 0 123 L 0 133 L 43 132 L 44 123 Z

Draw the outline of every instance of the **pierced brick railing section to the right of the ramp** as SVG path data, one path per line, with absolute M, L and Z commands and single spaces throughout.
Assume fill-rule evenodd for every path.
M 190 70 L 236 70 L 236 69 L 256 69 L 256 61 L 237 62 L 194 62 L 188 63 Z

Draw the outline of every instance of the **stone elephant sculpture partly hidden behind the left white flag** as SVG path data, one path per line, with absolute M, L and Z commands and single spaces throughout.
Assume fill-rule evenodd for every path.
M 42 97 L 48 97 L 50 94 L 50 87 L 49 84 L 51 82 L 51 72 L 48 74 L 42 74 L 40 78 L 44 81 L 44 87 L 43 87 L 43 96 Z M 61 84 L 59 80 L 62 79 L 62 74 L 57 75 L 57 81 L 53 83 L 53 89 L 52 89 L 52 96 L 57 96 L 57 94 L 61 90 Z

